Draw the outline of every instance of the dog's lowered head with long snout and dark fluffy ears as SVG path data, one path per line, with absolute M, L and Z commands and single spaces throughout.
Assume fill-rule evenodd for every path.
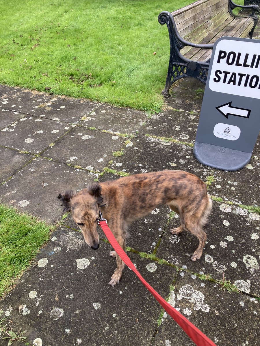
M 98 208 L 104 204 L 101 185 L 90 183 L 86 189 L 80 192 L 69 190 L 60 193 L 58 198 L 62 201 L 63 212 L 70 212 L 73 220 L 78 224 L 85 242 L 93 250 L 98 249 Z

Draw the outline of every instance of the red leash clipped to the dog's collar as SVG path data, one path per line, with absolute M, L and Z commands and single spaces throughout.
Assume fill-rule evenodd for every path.
M 194 341 L 197 346 L 216 346 L 205 334 L 202 333 L 197 327 L 195 327 L 187 318 L 182 316 L 182 314 L 174 309 L 166 300 L 159 295 L 152 286 L 150 286 L 142 275 L 138 272 L 136 267 L 131 262 L 128 255 L 123 251 L 121 246 L 116 241 L 110 228 L 107 226 L 105 219 L 98 220 L 98 224 L 105 233 L 110 244 L 115 249 L 116 253 L 121 257 L 122 261 L 139 277 L 140 281 L 145 285 L 148 291 L 153 294 L 155 299 L 161 304 L 164 310 L 177 322 L 177 324 L 185 331 L 185 333 Z

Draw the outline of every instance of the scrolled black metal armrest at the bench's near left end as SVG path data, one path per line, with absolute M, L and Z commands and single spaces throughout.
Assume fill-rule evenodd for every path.
M 158 16 L 158 22 L 162 25 L 167 24 L 170 39 L 173 39 L 173 36 L 177 38 L 177 40 L 179 41 L 179 44 L 178 44 L 179 49 L 182 49 L 184 46 L 190 46 L 190 47 L 196 47 L 196 48 L 202 48 L 202 49 L 213 48 L 213 44 L 195 44 L 195 43 L 184 40 L 178 33 L 175 20 L 171 12 L 168 12 L 168 11 L 161 12 Z

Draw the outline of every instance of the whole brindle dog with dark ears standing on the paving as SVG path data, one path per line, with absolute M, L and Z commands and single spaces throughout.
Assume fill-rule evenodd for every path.
M 180 215 L 181 226 L 171 229 L 180 234 L 183 229 L 199 239 L 199 246 L 191 256 L 198 260 L 207 240 L 202 227 L 212 207 L 207 187 L 197 176 L 184 171 L 164 170 L 161 172 L 135 174 L 104 183 L 90 183 L 79 192 L 70 190 L 59 194 L 63 212 L 71 212 L 79 225 L 85 242 L 94 250 L 98 248 L 97 220 L 99 210 L 112 230 L 116 240 L 125 250 L 127 228 L 131 222 L 147 215 L 160 204 L 167 204 Z M 119 282 L 124 263 L 116 257 L 117 267 L 110 285 Z

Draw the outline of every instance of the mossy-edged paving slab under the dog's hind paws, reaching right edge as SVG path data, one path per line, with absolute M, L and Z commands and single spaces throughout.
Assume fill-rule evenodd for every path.
M 172 235 L 170 228 L 179 227 L 180 218 L 173 219 L 157 251 L 159 258 L 191 272 L 211 274 L 214 279 L 235 283 L 246 293 L 260 295 L 260 228 L 259 215 L 247 210 L 213 203 L 209 225 L 205 229 L 208 239 L 202 257 L 190 261 L 198 246 L 198 239 L 188 232 Z

